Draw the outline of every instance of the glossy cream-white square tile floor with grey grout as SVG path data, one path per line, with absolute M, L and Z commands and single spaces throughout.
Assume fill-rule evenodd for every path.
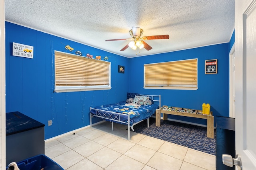
M 65 170 L 215 170 L 215 156 L 131 132 L 110 122 L 45 142 L 45 155 Z

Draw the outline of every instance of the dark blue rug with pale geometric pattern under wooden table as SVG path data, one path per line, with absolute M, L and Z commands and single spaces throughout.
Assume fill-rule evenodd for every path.
M 134 132 L 215 155 L 215 129 L 212 139 L 207 137 L 206 127 L 166 120 L 161 120 L 161 127 L 157 127 L 155 120 L 150 118 L 149 128 L 146 120 L 134 125 Z

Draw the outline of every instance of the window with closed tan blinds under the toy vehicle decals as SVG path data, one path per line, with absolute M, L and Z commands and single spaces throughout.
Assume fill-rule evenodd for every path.
M 55 51 L 56 92 L 110 88 L 110 62 Z

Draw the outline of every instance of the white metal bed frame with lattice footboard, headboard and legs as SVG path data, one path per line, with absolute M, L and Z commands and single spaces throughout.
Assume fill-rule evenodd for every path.
M 151 100 L 153 100 L 154 102 L 159 102 L 159 108 L 161 107 L 161 95 L 140 94 L 140 96 L 149 96 L 149 98 Z M 158 100 L 154 99 L 154 98 L 158 98 Z M 128 127 L 128 129 L 127 129 L 128 130 L 128 140 L 130 140 L 130 127 L 132 128 L 132 131 L 134 131 L 133 126 L 140 123 L 141 121 L 145 120 L 145 119 L 143 119 L 141 121 L 134 123 L 132 126 L 130 126 L 130 114 L 123 114 L 123 113 L 116 113 L 116 112 L 106 111 L 106 110 L 101 110 L 101 109 L 94 109 L 96 111 L 96 114 L 94 115 L 91 113 L 92 109 L 94 109 L 94 108 L 90 107 L 90 127 L 92 127 L 92 117 L 99 117 L 102 119 L 106 119 L 107 121 L 111 121 L 112 131 L 114 130 L 113 121 L 126 124 Z M 127 117 L 127 122 L 121 121 L 120 115 Z M 148 127 L 149 127 L 149 118 L 147 118 L 147 122 L 148 122 Z

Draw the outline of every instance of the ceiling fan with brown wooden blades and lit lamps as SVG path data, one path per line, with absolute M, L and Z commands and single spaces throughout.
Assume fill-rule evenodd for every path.
M 143 29 L 140 27 L 132 27 L 132 29 L 129 31 L 132 38 L 130 39 L 106 39 L 105 41 L 119 41 L 119 40 L 132 40 L 130 43 L 128 43 L 124 48 L 122 48 L 120 51 L 126 50 L 128 47 L 131 47 L 132 49 L 136 50 L 137 47 L 142 49 L 143 47 L 146 50 L 151 50 L 152 47 L 148 45 L 145 40 L 150 39 L 169 39 L 169 35 L 151 35 L 151 36 L 145 36 L 141 37 L 143 34 Z

